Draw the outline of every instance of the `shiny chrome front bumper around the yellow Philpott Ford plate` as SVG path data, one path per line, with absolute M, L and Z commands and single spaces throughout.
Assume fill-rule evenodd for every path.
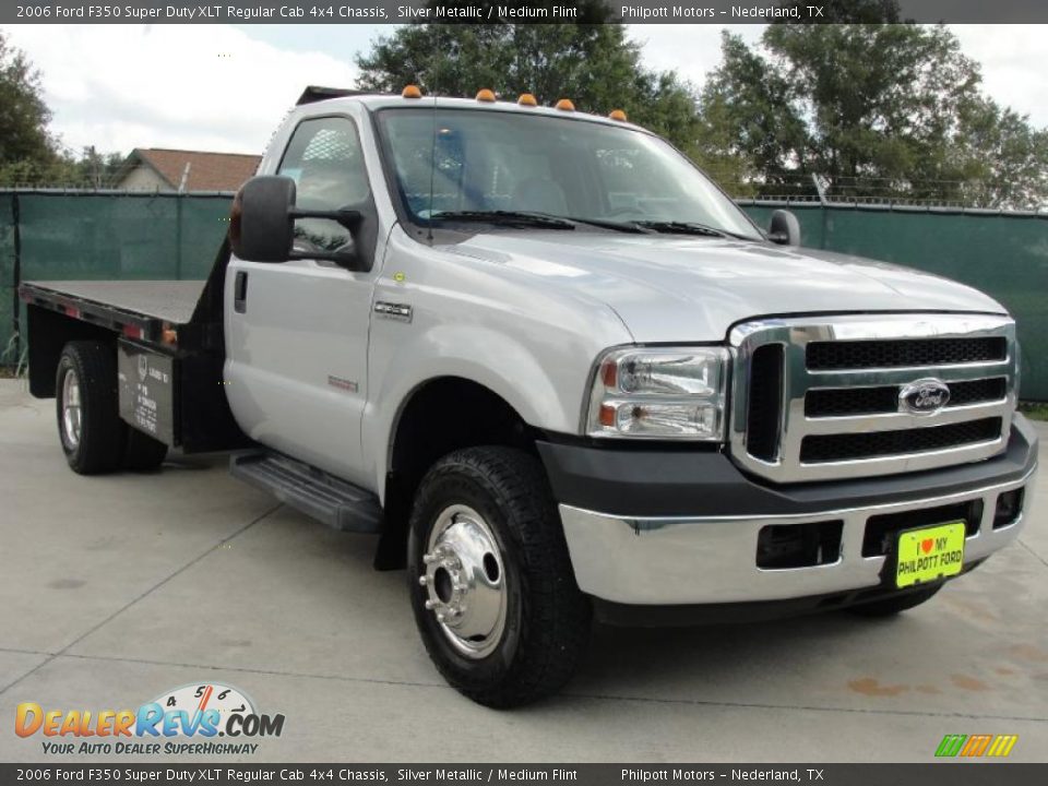
M 687 605 L 783 600 L 877 587 L 885 557 L 864 557 L 867 519 L 982 500 L 979 531 L 967 538 L 965 564 L 985 559 L 1016 538 L 1033 501 L 1034 466 L 1021 479 L 884 505 L 820 511 L 811 515 L 617 516 L 560 505 L 575 580 L 597 598 L 631 605 Z M 1015 521 L 993 529 L 997 498 L 1025 487 Z M 844 522 L 841 558 L 811 568 L 757 567 L 758 535 L 770 524 Z

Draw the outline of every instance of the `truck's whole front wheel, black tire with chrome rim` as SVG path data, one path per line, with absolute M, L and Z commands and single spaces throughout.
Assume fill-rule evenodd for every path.
M 433 664 L 480 704 L 553 693 L 585 653 L 591 605 L 541 465 L 523 451 L 468 448 L 433 465 L 412 513 L 408 585 Z

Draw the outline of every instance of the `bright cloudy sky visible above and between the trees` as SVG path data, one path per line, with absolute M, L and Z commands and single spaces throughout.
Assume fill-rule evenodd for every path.
M 719 25 L 629 25 L 645 66 L 696 87 Z M 950 25 L 985 92 L 1048 127 L 1048 25 Z M 392 25 L 7 25 L 43 74 L 52 131 L 74 153 L 179 147 L 259 153 L 305 85 L 352 87 L 354 56 Z M 761 25 L 731 27 L 755 41 Z M 481 85 L 478 85 L 478 87 Z

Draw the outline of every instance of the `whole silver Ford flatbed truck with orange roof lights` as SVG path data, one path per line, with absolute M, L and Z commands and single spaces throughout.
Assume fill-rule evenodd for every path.
M 74 471 L 231 451 L 378 534 L 437 668 L 490 706 L 559 689 L 595 617 L 914 607 L 1031 504 L 999 303 L 803 249 L 786 212 L 764 231 L 569 102 L 307 90 L 206 282 L 21 296 Z

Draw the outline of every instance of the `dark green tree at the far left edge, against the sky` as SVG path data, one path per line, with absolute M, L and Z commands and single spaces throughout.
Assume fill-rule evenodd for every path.
M 0 31 L 0 165 L 52 162 L 55 146 L 47 132 L 50 119 L 39 72 Z

